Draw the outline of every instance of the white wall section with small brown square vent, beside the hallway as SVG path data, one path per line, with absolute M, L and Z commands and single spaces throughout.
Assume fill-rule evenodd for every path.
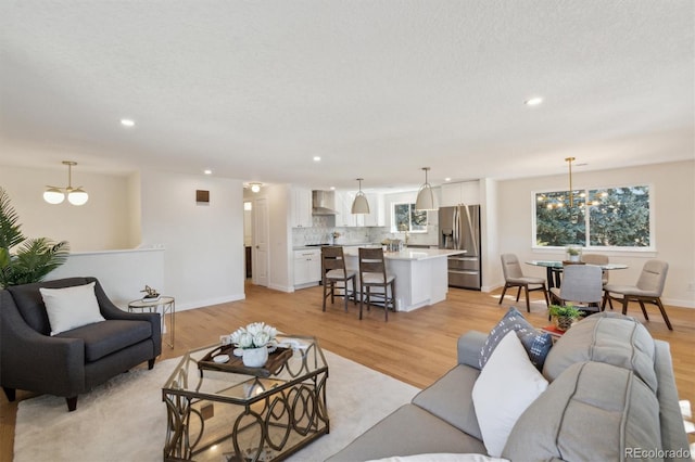
M 210 203 L 198 204 L 195 190 Z M 163 291 L 177 309 L 244 298 L 242 191 L 240 180 L 142 172 L 141 245 L 165 248 Z

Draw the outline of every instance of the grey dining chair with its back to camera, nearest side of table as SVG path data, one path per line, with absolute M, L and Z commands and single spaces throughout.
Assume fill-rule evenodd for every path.
M 563 285 L 551 288 L 555 305 L 571 303 L 582 311 L 598 311 L 603 296 L 602 269 L 595 265 L 567 265 L 563 271 Z

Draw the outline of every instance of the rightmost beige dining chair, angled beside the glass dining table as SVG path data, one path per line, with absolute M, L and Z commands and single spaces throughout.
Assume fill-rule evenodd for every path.
M 604 298 L 601 305 L 601 309 L 606 308 L 606 301 L 616 300 L 622 303 L 622 313 L 628 313 L 628 303 L 637 301 L 640 308 L 642 308 L 642 315 L 647 321 L 647 310 L 644 307 L 645 303 L 656 305 L 661 311 L 661 317 L 672 331 L 671 321 L 666 313 L 664 304 L 661 303 L 661 293 L 664 293 L 664 285 L 666 284 L 666 274 L 669 271 L 669 264 L 662 260 L 647 260 L 642 268 L 640 278 L 635 285 L 618 285 L 608 284 L 604 286 Z

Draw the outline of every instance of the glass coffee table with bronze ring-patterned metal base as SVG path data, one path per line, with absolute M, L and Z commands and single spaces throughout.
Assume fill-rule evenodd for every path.
M 326 358 L 316 338 L 280 341 L 290 338 L 296 344 L 273 371 L 217 369 L 210 360 L 219 345 L 187 352 L 162 387 L 164 460 L 282 460 L 327 434 Z

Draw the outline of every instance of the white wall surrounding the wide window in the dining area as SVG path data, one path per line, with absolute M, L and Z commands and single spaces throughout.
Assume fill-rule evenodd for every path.
M 658 258 L 669 262 L 662 299 L 669 305 L 695 308 L 695 162 L 656 164 L 615 170 L 573 172 L 576 188 L 650 184 L 654 197 L 656 252 L 604 252 L 612 262 L 629 265 L 627 270 L 610 272 L 610 282 L 634 284 L 644 262 Z M 500 254 L 515 253 L 521 261 L 561 259 L 563 254 L 531 248 L 533 197 L 539 190 L 563 190 L 567 176 L 526 178 L 498 183 L 498 253 L 488 255 L 489 264 L 500 266 Z M 494 232 L 490 230 L 490 232 Z M 545 277 L 543 268 L 528 265 L 529 275 Z M 496 286 L 503 284 L 501 272 Z

